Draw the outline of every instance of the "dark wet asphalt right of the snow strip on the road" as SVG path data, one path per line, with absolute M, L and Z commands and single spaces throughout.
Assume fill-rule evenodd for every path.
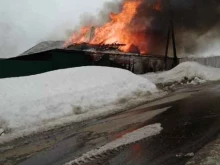
M 162 133 L 130 146 L 109 160 L 109 165 L 184 165 L 220 133 L 220 86 L 183 100 L 162 104 L 170 106 L 144 125 L 160 122 Z M 151 107 L 153 108 L 153 107 Z M 199 165 L 199 164 L 198 164 Z

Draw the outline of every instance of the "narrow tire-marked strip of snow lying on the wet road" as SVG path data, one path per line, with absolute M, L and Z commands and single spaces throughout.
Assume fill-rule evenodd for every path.
M 136 143 L 140 140 L 146 139 L 151 136 L 155 136 L 160 134 L 160 132 L 163 130 L 161 127 L 161 124 L 153 124 L 148 125 L 145 127 L 142 127 L 138 130 L 135 130 L 131 133 L 125 134 L 121 138 L 112 141 L 98 149 L 91 150 L 85 154 L 83 154 L 81 157 L 66 163 L 65 165 L 73 165 L 73 164 L 83 164 L 82 162 L 88 163 L 88 161 L 93 161 L 94 158 L 100 158 L 103 155 L 106 155 L 108 152 L 112 152 L 114 150 L 120 149 L 122 147 L 125 147 L 129 144 Z

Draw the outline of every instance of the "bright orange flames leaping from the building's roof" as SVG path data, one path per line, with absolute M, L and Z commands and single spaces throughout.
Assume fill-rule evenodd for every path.
M 96 27 L 93 37 L 90 34 L 92 26 L 83 27 L 78 33 L 72 35 L 66 46 L 83 42 L 90 44 L 120 43 L 126 44 L 121 48 L 121 51 L 138 50 L 140 53 L 147 53 L 147 27 L 136 26 L 133 21 L 142 1 L 124 0 L 122 11 L 118 14 L 111 13 L 110 21 L 101 27 Z M 161 10 L 159 1 L 153 6 L 154 10 Z

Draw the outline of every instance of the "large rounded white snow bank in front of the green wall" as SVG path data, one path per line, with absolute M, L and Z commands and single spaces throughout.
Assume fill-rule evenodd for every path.
M 129 100 L 146 98 L 157 89 L 126 70 L 79 67 L 1 79 L 0 91 L 0 129 L 7 134 L 65 117 L 80 121 L 80 116 L 123 110 Z

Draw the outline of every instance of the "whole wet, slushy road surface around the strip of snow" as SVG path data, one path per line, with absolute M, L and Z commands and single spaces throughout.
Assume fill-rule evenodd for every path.
M 166 109 L 166 110 L 165 110 Z M 184 165 L 220 133 L 220 83 L 179 88 L 140 108 L 0 145 L 0 164 L 61 165 L 142 126 L 161 134 L 127 146 L 103 165 Z

